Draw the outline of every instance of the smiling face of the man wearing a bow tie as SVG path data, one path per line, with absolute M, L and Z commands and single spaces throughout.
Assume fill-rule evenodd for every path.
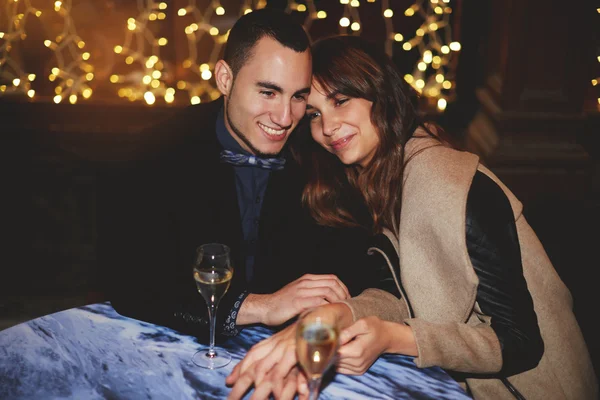
M 229 133 L 252 154 L 278 154 L 304 116 L 310 79 L 309 50 L 297 53 L 260 39 L 225 96 Z

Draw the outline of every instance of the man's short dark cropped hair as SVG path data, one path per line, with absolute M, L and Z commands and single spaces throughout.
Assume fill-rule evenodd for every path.
M 223 59 L 235 76 L 252 57 L 260 39 L 268 36 L 298 53 L 308 49 L 310 40 L 302 25 L 275 8 L 262 8 L 243 15 L 233 25 L 225 45 Z

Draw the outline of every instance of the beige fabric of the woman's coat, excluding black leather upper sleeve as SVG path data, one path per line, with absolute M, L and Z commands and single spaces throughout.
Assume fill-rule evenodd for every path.
M 475 301 L 478 278 L 466 246 L 467 195 L 477 170 L 492 178 L 510 200 L 521 246 L 523 273 L 533 298 L 545 351 L 539 365 L 508 380 L 531 399 L 597 399 L 598 384 L 572 297 L 542 244 L 522 215 L 522 205 L 476 155 L 431 138 L 407 143 L 402 212 L 397 232 L 385 232 L 400 259 L 399 290 L 406 302 L 368 289 L 347 304 L 354 319 L 376 315 L 413 328 L 419 367 L 494 373 L 502 367 L 500 343 L 490 317 Z M 371 249 L 378 251 L 379 249 Z M 384 254 L 385 256 L 385 254 Z M 389 264 L 389 260 L 388 260 Z M 395 275 L 397 266 L 390 265 Z M 398 279 L 396 279 L 398 284 Z M 511 399 L 498 379 L 466 380 L 477 399 Z

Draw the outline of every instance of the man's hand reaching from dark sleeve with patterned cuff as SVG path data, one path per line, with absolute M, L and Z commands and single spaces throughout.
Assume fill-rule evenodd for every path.
M 350 298 L 335 275 L 306 274 L 272 294 L 249 294 L 237 317 L 238 325 L 281 325 L 313 307 Z

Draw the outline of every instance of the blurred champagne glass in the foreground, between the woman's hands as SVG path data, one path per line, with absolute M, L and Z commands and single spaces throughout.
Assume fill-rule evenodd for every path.
M 298 321 L 296 354 L 308 378 L 309 399 L 317 400 L 323 374 L 333 364 L 339 346 L 335 320 L 309 313 Z

